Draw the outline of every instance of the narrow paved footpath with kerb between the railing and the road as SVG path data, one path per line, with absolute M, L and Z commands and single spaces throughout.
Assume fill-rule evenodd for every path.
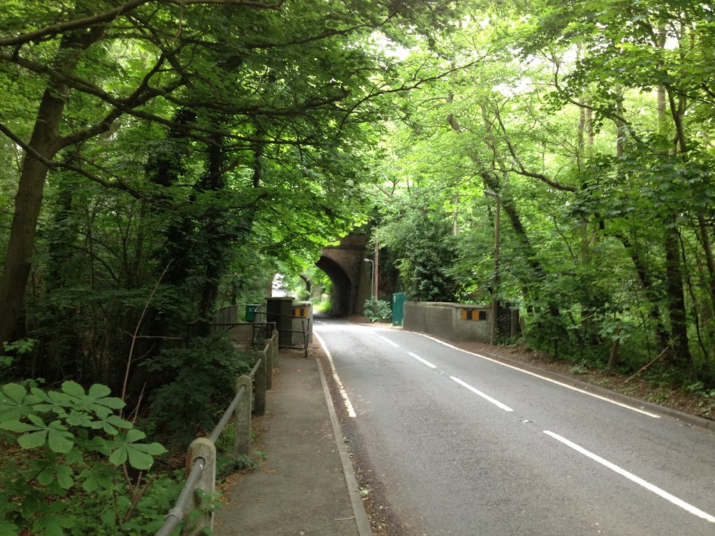
M 319 367 L 312 358 L 281 355 L 265 430 L 251 445 L 266 462 L 225 492 L 218 536 L 372 535 Z

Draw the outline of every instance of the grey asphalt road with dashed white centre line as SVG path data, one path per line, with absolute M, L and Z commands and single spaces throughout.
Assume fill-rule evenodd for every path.
M 404 535 L 715 535 L 713 432 L 420 334 L 315 332 L 344 433 Z

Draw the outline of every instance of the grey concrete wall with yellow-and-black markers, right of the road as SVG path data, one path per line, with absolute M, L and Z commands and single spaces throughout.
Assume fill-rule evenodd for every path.
M 405 329 L 453 341 L 489 342 L 491 307 L 443 302 L 405 302 Z

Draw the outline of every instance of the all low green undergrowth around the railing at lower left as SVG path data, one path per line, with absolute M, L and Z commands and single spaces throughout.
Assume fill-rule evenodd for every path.
M 148 400 L 137 398 L 130 415 L 102 384 L 46 389 L 28 379 L 1 387 L 0 534 L 138 536 L 159 529 L 183 486 L 181 453 L 212 430 L 236 377 L 250 367 L 226 334 L 194 337 L 141 366 L 159 385 Z M 219 477 L 257 463 L 224 454 L 232 453 L 232 439 L 228 430 L 220 442 Z

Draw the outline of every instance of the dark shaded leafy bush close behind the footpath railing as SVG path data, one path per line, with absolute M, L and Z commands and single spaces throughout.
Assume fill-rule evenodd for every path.
M 236 378 L 250 370 L 248 359 L 227 334 L 194 337 L 188 348 L 164 350 L 144 363 L 149 372 L 172 377 L 152 397 L 150 420 L 162 432 L 188 445 L 198 430 L 212 430 L 215 413 L 235 394 Z

